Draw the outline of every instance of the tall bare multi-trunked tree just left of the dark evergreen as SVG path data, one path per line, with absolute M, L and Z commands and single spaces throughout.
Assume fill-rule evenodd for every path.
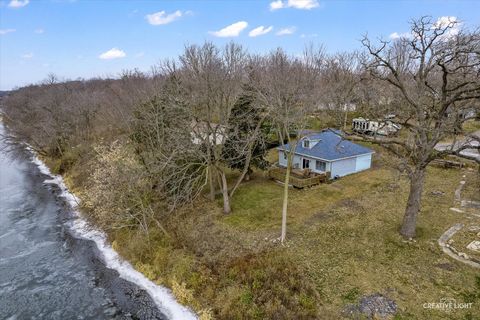
M 171 92 L 169 99 L 181 99 L 189 124 L 181 129 L 191 135 L 197 159 L 203 158 L 210 199 L 215 197 L 215 183 L 223 198 L 223 212 L 231 212 L 231 197 L 250 167 L 251 155 L 265 115 L 255 118 L 253 130 L 230 144 L 235 152 L 224 152 L 228 131 L 233 128 L 231 111 L 242 94 L 246 78 L 247 54 L 242 47 L 230 43 L 219 49 L 211 43 L 187 46 L 179 62 L 162 66 L 166 77 L 175 79 L 180 90 Z M 252 118 L 253 119 L 253 118 Z M 232 158 L 232 155 L 235 156 Z M 227 158 L 226 158 L 227 157 Z M 229 189 L 226 164 L 242 163 L 238 176 Z

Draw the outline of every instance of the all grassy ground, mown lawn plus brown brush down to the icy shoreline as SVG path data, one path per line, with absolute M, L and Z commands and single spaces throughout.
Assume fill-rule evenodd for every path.
M 275 151 L 269 159 L 276 159 Z M 230 215 L 221 213 L 221 197 L 199 200 L 171 216 L 165 225 L 170 238 L 159 234 L 147 241 L 120 233 L 113 235 L 115 246 L 202 319 L 341 319 L 348 304 L 373 293 L 396 301 L 395 319 L 476 319 L 479 271 L 449 258 L 437 244 L 465 220 L 449 208 L 463 175 L 465 190 L 478 190 L 476 171 L 429 167 L 418 237 L 405 242 L 398 230 L 408 180 L 389 169 L 381 153 L 374 159 L 370 170 L 290 189 L 285 246 L 275 241 L 283 186 L 258 171 L 239 187 Z M 443 298 L 472 301 L 473 309 L 422 307 Z

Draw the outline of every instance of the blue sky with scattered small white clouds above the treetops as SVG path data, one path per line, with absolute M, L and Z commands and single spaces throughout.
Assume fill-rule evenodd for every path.
M 204 41 L 233 40 L 258 53 L 283 47 L 298 54 L 311 42 L 352 50 L 364 33 L 402 34 L 422 15 L 480 26 L 480 1 L 2 0 L 0 90 L 51 72 L 76 79 L 148 71 Z

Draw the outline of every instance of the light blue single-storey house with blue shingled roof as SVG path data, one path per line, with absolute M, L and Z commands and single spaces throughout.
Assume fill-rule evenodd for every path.
M 332 179 L 369 169 L 373 150 L 340 136 L 340 131 L 326 129 L 301 138 L 295 149 L 293 168 L 310 169 L 316 173 L 330 172 Z M 287 167 L 289 144 L 278 147 L 278 162 Z

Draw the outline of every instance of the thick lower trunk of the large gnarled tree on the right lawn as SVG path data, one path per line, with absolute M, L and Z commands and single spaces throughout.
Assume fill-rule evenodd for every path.
M 410 176 L 410 193 L 408 195 L 407 208 L 403 216 L 403 224 L 400 234 L 404 238 L 415 237 L 417 216 L 422 201 L 423 184 L 425 182 L 425 168 L 416 168 Z

